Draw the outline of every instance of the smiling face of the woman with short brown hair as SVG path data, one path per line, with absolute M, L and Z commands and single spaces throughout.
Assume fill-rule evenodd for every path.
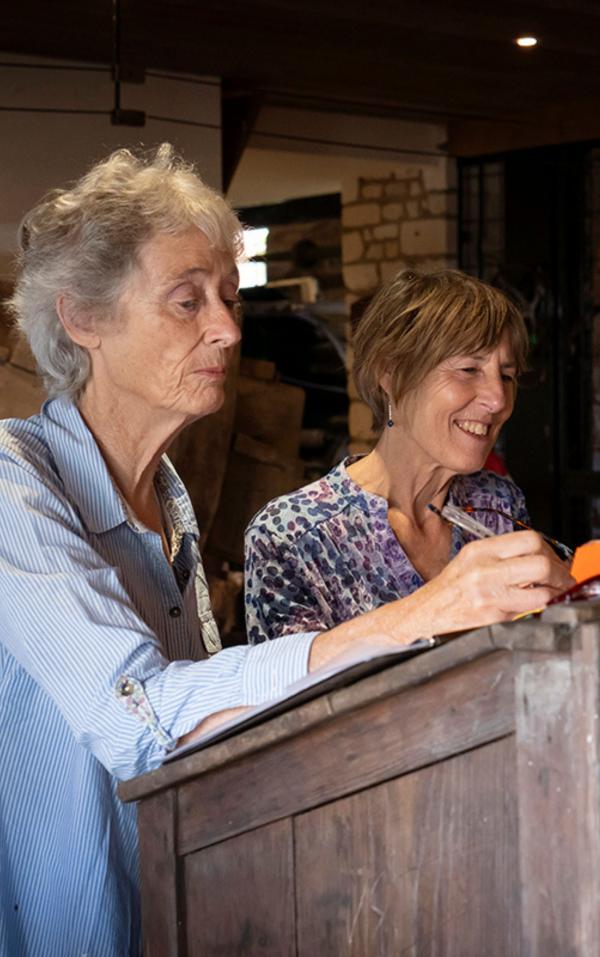
M 490 352 L 452 356 L 399 403 L 394 422 L 423 465 L 476 472 L 513 410 L 516 365 L 508 334 Z

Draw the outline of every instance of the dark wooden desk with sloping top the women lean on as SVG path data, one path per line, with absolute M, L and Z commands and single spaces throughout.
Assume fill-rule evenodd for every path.
M 546 616 L 122 785 L 146 957 L 600 954 L 600 605 Z

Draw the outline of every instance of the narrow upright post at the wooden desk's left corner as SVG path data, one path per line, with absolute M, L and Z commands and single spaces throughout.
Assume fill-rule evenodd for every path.
M 164 791 L 138 807 L 144 957 L 179 957 L 176 802 Z

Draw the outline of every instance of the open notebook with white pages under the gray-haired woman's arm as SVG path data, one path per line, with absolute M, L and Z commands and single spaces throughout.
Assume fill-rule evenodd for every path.
M 208 731 L 192 744 L 176 748 L 165 758 L 164 763 L 175 761 L 184 754 L 191 754 L 193 751 L 206 748 L 209 744 L 216 744 L 217 741 L 230 738 L 239 731 L 254 727 L 254 725 L 260 724 L 267 718 L 274 718 L 276 715 L 289 711 L 304 701 L 316 698 L 327 691 L 342 688 L 359 678 L 374 674 L 376 671 L 382 671 L 384 668 L 389 668 L 390 665 L 397 664 L 406 658 L 413 658 L 415 655 L 433 648 L 437 643 L 436 638 L 423 638 L 414 641 L 411 645 L 402 645 L 392 650 L 389 647 L 373 647 L 363 651 L 360 655 L 345 656 L 335 664 L 319 668 L 299 681 L 288 685 L 279 697 L 273 698 L 266 704 L 249 708 L 248 711 L 232 718 L 231 721 L 215 728 L 214 731 Z

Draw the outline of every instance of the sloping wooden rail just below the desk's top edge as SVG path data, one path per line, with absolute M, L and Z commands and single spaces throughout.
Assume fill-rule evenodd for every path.
M 182 785 L 179 853 L 499 738 L 513 723 L 511 658 L 496 652 Z

